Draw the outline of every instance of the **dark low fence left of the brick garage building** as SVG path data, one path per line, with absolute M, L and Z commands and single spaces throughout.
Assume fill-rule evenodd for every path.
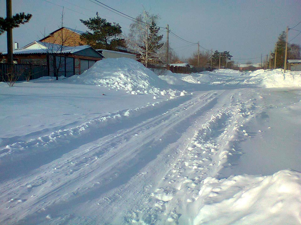
M 8 63 L 0 63 L 0 81 L 7 81 L 9 67 L 10 65 Z M 20 75 L 18 81 L 26 81 L 28 76 L 30 76 L 30 80 L 49 76 L 48 67 L 46 65 L 13 64 L 13 67 L 14 71 Z

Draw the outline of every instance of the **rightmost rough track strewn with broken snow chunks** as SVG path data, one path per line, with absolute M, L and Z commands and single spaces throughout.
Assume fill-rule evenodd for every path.
M 241 132 L 238 124 L 249 119 L 253 106 L 248 102 L 235 103 L 232 96 L 228 107 L 219 109 L 195 132 L 182 156 L 153 188 L 145 201 L 149 202 L 148 207 L 130 211 L 127 223 L 177 224 L 181 215 L 181 224 L 192 223 L 193 217 L 187 215 L 193 215 L 202 204 L 198 200 L 199 187 L 205 178 L 218 174 L 227 163 L 228 154 L 235 153 L 234 143 Z

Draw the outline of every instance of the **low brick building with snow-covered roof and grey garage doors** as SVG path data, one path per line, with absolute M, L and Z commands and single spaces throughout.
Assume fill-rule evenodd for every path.
M 48 75 L 59 76 L 81 74 L 101 60 L 103 56 L 89 45 L 61 46 L 59 44 L 34 41 L 22 49 L 13 50 L 13 60 L 18 64 L 47 65 Z M 7 53 L 2 53 L 0 61 L 6 62 Z

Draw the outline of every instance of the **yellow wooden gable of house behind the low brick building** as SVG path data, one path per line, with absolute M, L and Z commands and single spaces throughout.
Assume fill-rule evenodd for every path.
M 84 31 L 79 31 L 69 27 L 61 27 L 46 37 L 39 40 L 40 42 L 48 42 L 53 44 L 62 44 L 65 46 L 80 46 L 87 45 L 87 42 L 81 40 L 81 35 Z

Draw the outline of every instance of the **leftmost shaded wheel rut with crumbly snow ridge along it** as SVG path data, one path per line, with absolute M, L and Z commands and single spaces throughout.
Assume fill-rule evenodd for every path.
M 50 135 L 10 144 L 0 150 L 0 180 L 14 178 L 20 173 L 29 172 L 82 144 L 92 142 L 121 129 L 133 127 L 148 118 L 168 111 L 175 105 L 184 103 L 192 97 L 187 95 L 140 108 L 122 110 L 74 128 L 58 130 Z

